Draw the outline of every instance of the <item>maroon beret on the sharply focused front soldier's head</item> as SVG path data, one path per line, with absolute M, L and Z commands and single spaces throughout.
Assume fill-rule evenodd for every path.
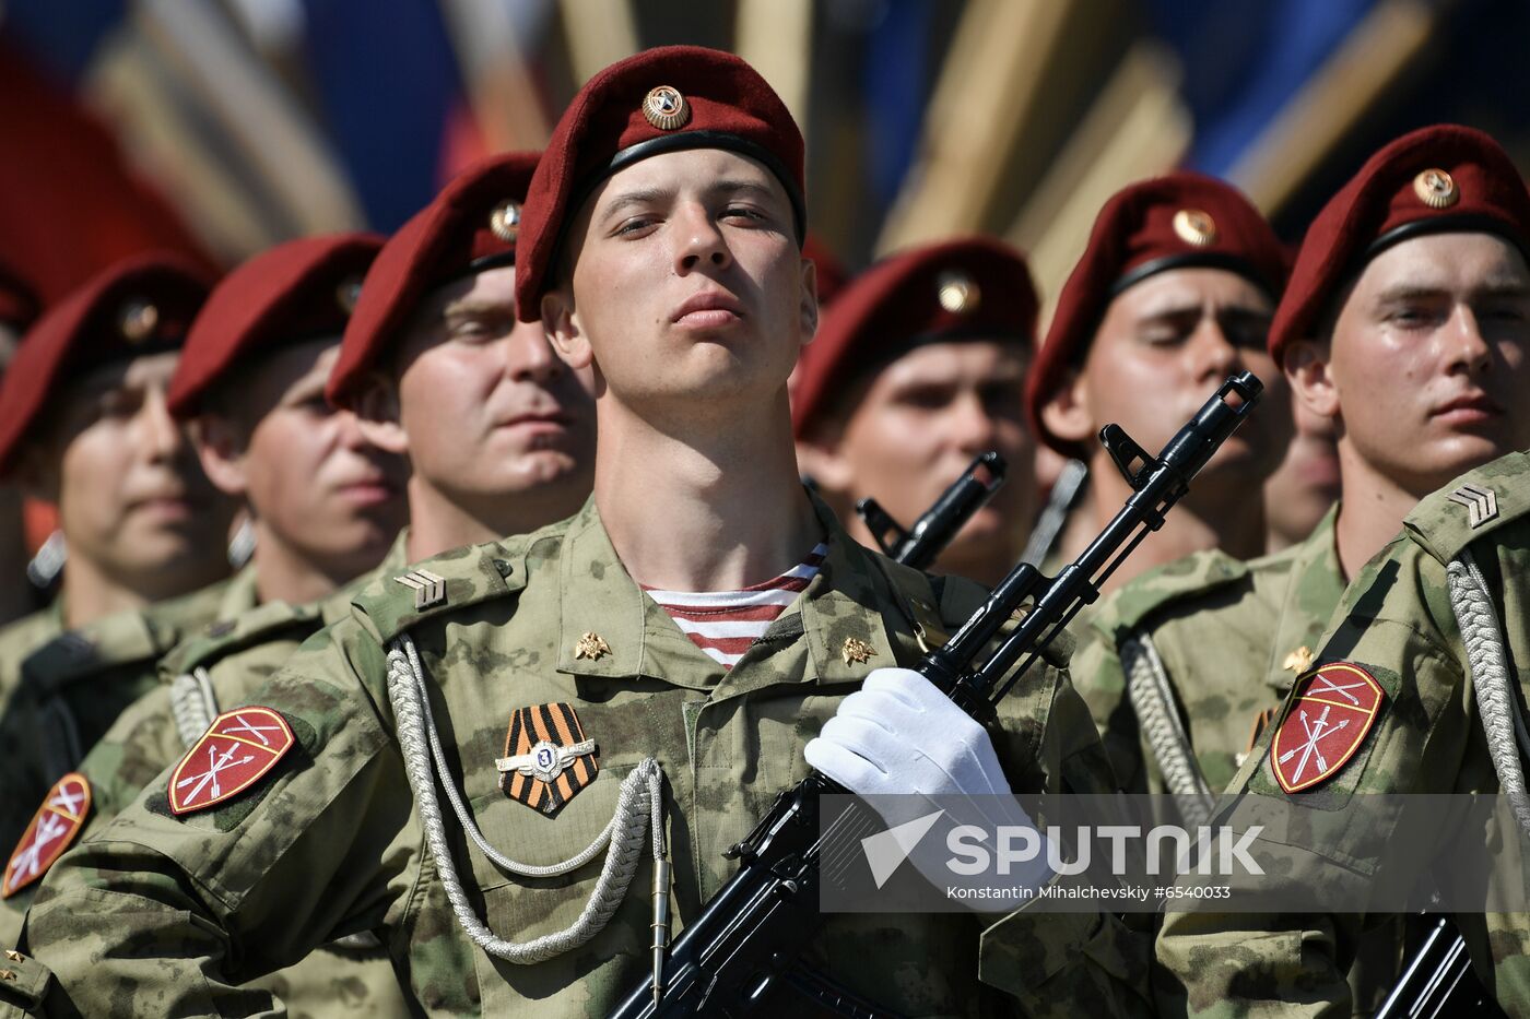
M 589 193 L 618 170 L 682 148 L 727 148 L 762 162 L 786 188 L 797 240 L 803 240 L 802 132 L 780 96 L 733 54 L 701 46 L 649 49 L 584 83 L 558 118 L 520 225 L 516 303 L 522 321 L 542 317 L 568 220 Z

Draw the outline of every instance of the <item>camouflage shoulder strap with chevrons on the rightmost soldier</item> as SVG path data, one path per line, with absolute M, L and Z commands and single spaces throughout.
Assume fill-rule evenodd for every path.
M 1530 454 L 1510 453 L 1426 496 L 1403 528 L 1441 563 L 1530 511 Z

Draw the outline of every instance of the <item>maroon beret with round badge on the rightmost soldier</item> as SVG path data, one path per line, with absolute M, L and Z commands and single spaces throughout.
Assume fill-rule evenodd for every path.
M 1530 193 L 1498 142 L 1440 124 L 1371 156 L 1307 228 L 1270 326 L 1276 363 L 1287 344 L 1313 334 L 1328 303 L 1372 257 L 1409 237 L 1460 231 L 1530 248 Z

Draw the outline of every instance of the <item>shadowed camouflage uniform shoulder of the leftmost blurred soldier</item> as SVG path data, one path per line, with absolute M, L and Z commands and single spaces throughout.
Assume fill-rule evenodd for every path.
M 0 718 L 0 846 L 14 846 L 47 789 L 130 704 L 158 684 L 156 664 L 220 612 L 254 604 L 254 583 L 220 581 L 144 610 L 60 633 L 21 663 Z

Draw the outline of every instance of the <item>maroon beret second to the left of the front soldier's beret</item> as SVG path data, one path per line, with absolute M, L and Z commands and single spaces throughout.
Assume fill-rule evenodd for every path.
M 361 292 L 361 277 L 382 246 L 378 234 L 327 234 L 277 245 L 213 288 L 191 323 L 170 413 L 190 418 L 236 363 L 317 337 L 340 337 Z

